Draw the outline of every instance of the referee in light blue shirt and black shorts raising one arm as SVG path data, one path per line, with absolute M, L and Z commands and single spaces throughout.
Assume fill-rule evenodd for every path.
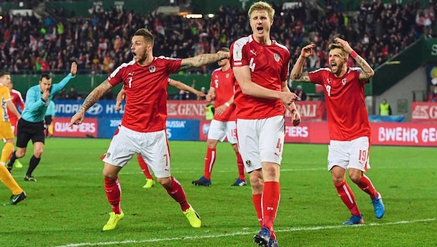
M 52 85 L 49 74 L 42 74 L 38 85 L 27 90 L 26 105 L 24 106 L 22 118 L 19 119 L 17 125 L 17 151 L 12 152 L 9 162 L 6 164 L 9 171 L 12 170 L 12 164 L 15 160 L 26 155 L 27 144 L 32 140 L 33 155 L 29 161 L 26 176 L 24 176 L 25 181 L 36 182 L 32 173 L 40 164 L 42 152 L 44 151 L 44 117 L 49 103 L 55 94 L 60 92 L 72 78 L 76 77 L 77 71 L 77 63 L 71 62 L 70 73 L 59 83 Z

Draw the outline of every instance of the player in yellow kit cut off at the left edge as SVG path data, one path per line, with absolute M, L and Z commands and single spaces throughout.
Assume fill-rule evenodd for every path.
M 19 114 L 17 108 L 12 103 L 10 99 L 9 88 L 5 85 L 10 83 L 10 74 L 8 72 L 0 72 L 0 97 L 1 97 L 1 105 L 0 108 L 0 138 L 6 139 L 6 144 L 3 146 L 3 150 L 1 151 L 0 157 L 0 180 L 3 182 L 8 189 L 12 192 L 12 196 L 10 196 L 10 201 L 5 203 L 4 205 L 16 205 L 20 201 L 26 199 L 26 192 L 19 187 L 14 178 L 10 175 L 10 172 L 5 167 L 6 161 L 10 153 L 14 148 L 15 136 L 12 132 L 12 128 L 9 121 L 8 112 L 5 109 L 5 105 L 10 108 L 10 111 L 17 116 L 17 119 L 20 119 L 22 116 Z

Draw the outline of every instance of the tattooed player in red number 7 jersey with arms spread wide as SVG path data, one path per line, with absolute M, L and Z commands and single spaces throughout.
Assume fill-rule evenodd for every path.
M 218 52 L 184 59 L 155 57 L 153 43 L 153 34 L 146 28 L 139 28 L 133 35 L 130 46 L 133 60 L 112 71 L 108 79 L 89 93 L 78 112 L 71 117 L 70 125 L 83 123 L 85 112 L 105 92 L 123 83 L 126 92 L 123 119 L 112 137 L 108 151 L 102 157 L 105 162 L 105 193 L 112 206 L 110 219 L 103 226 L 103 230 L 113 230 L 124 217 L 120 207 L 121 185 L 118 174 L 136 153 L 151 167 L 157 182 L 166 189 L 169 196 L 180 204 L 190 225 L 194 228 L 202 225 L 200 216 L 189 205 L 180 182 L 171 176 L 166 136 L 168 78 L 180 70 L 201 67 L 228 58 L 229 54 Z

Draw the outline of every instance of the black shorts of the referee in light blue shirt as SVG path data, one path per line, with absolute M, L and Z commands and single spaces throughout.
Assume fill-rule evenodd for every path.
M 32 143 L 44 143 L 45 136 L 44 121 L 33 123 L 19 119 L 17 125 L 17 147 L 26 148 L 30 140 L 32 140 Z

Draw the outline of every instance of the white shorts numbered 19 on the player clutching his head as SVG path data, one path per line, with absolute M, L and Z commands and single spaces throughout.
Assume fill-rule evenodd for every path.
M 328 171 L 331 171 L 334 166 L 361 171 L 370 169 L 370 141 L 368 137 L 359 137 L 352 141 L 331 140 L 328 150 Z

